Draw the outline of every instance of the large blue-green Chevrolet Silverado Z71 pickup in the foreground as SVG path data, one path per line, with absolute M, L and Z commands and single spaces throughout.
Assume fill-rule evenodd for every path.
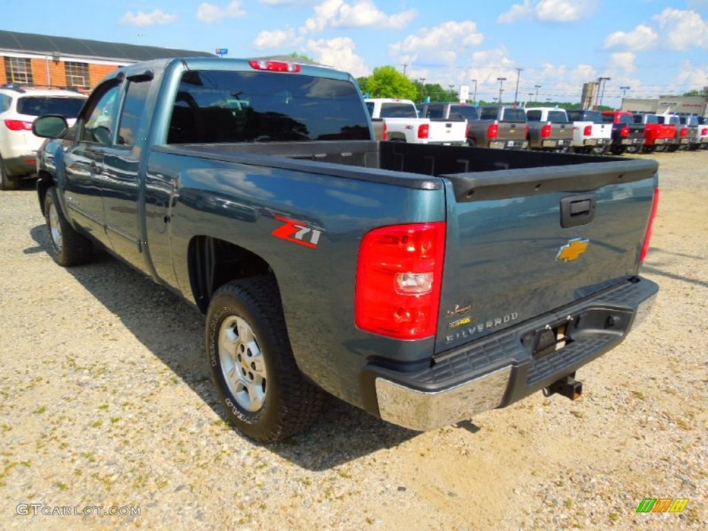
M 55 262 L 107 249 L 205 314 L 256 440 L 304 430 L 324 392 L 413 430 L 577 398 L 658 291 L 639 276 L 656 161 L 377 142 L 336 69 L 131 64 L 69 137 L 58 115 L 33 131 Z

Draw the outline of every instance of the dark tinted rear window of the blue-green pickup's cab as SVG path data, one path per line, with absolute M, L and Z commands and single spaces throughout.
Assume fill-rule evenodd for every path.
M 210 70 L 183 74 L 167 141 L 370 139 L 367 110 L 349 81 Z

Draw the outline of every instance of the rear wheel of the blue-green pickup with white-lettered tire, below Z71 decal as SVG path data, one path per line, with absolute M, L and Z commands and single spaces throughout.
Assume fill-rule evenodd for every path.
M 219 287 L 207 312 L 206 348 L 227 417 L 241 433 L 275 442 L 319 416 L 324 394 L 295 363 L 273 278 Z

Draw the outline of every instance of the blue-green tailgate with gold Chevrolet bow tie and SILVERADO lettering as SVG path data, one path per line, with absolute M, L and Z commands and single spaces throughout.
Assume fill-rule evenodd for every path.
M 656 161 L 545 160 L 561 165 L 443 176 L 448 234 L 436 353 L 638 272 Z

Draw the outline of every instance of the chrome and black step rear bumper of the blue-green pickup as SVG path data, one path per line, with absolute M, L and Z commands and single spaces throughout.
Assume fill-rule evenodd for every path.
M 654 282 L 633 278 L 444 353 L 425 370 L 367 365 L 361 379 L 367 411 L 399 426 L 430 430 L 513 404 L 621 343 L 649 314 L 657 292 Z M 559 322 L 568 323 L 571 341 L 535 357 L 529 338 Z

